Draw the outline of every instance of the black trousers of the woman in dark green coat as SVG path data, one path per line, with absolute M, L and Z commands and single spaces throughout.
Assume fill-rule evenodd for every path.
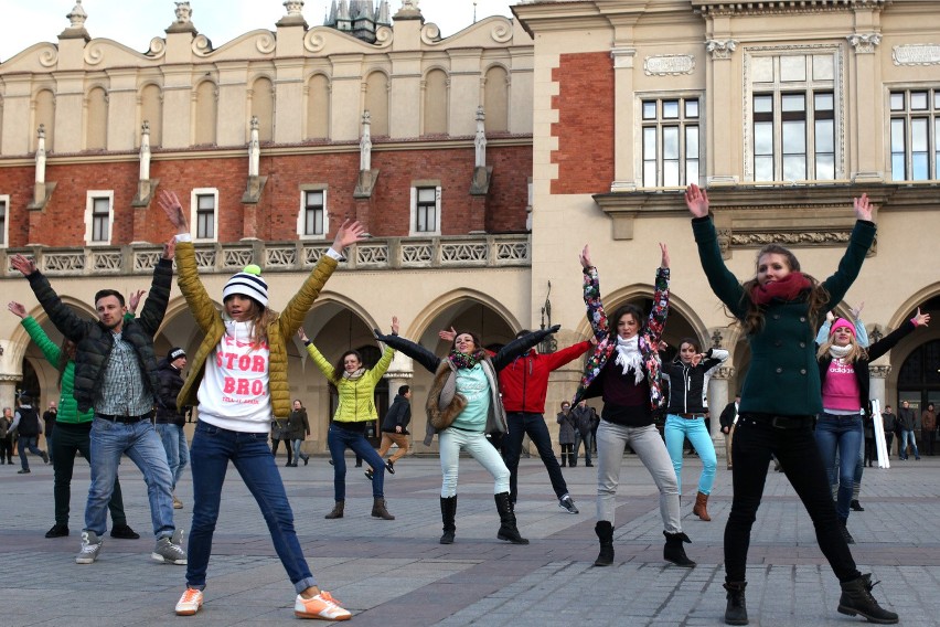
M 745 581 L 750 529 L 763 496 L 771 454 L 780 460 L 787 479 L 807 508 L 816 542 L 835 576 L 842 583 L 858 578 L 862 575 L 842 536 L 832 502 L 829 478 L 813 437 L 812 418 L 781 416 L 777 419 L 778 427 L 772 421 L 772 416 L 765 414 L 741 414 L 735 427 L 731 442 L 735 495 L 725 527 L 725 581 Z

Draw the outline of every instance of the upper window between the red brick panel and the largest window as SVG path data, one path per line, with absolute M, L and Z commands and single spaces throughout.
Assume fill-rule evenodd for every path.
M 698 182 L 699 99 L 642 98 L 643 187 Z

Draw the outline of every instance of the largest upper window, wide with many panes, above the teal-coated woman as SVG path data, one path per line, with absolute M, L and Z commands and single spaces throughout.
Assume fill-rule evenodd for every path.
M 835 51 L 749 57 L 754 181 L 840 178 L 837 63 Z

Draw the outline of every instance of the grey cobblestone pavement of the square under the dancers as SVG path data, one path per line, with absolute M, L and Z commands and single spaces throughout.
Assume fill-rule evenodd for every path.
M 352 461 L 352 459 L 350 459 Z M 712 522 L 691 513 L 701 465 L 686 458 L 683 528 L 693 540 L 693 570 L 662 561 L 662 525 L 650 476 L 624 458 L 618 496 L 615 564 L 592 567 L 597 555 L 595 468 L 566 468 L 580 514 L 557 506 L 537 458 L 520 466 L 520 530 L 532 543 L 496 540 L 499 518 L 490 476 L 461 460 L 457 541 L 440 536 L 440 470 L 435 458 L 402 459 L 386 477 L 394 521 L 370 516 L 371 487 L 350 464 L 345 518 L 324 520 L 332 507 L 332 467 L 324 458 L 281 468 L 305 553 L 318 582 L 342 599 L 360 626 L 421 625 L 722 625 L 722 538 L 730 507 L 730 472 L 719 460 L 708 503 Z M 274 553 L 265 522 L 234 468 L 229 469 L 210 563 L 205 605 L 193 617 L 173 614 L 184 567 L 150 560 L 153 546 L 147 490 L 137 468 L 121 464 L 128 520 L 145 536 L 106 538 L 93 565 L 76 565 L 87 496 L 88 467 L 77 460 L 72 495 L 72 535 L 46 540 L 53 523 L 52 467 L 31 459 L 0 467 L 0 626 L 67 625 L 296 625 L 292 586 Z M 278 463 L 284 464 L 284 458 Z M 894 461 L 866 469 L 862 504 L 848 527 L 863 572 L 882 584 L 875 596 L 904 625 L 940 619 L 940 457 Z M 192 482 L 178 496 L 177 524 L 189 529 Z M 838 582 L 819 548 L 812 524 L 781 474 L 768 475 L 751 540 L 748 568 L 751 625 L 851 625 L 835 612 Z

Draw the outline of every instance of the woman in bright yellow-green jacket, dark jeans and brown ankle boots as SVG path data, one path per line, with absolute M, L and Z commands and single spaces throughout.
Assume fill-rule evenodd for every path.
M 397 329 L 396 329 L 397 331 Z M 340 396 L 337 413 L 330 424 L 327 435 L 327 446 L 330 447 L 330 457 L 333 459 L 333 491 L 337 504 L 333 511 L 324 518 L 343 518 L 343 508 L 346 502 L 346 460 L 343 454 L 351 448 L 359 457 L 365 459 L 366 464 L 374 469 L 372 475 L 372 516 L 383 520 L 395 520 L 385 507 L 385 463 L 378 453 L 372 448 L 365 439 L 365 427 L 370 422 L 378 419 L 375 410 L 375 386 L 392 364 L 395 351 L 385 347 L 382 359 L 373 369 L 366 369 L 362 363 L 359 351 L 346 351 L 340 357 L 335 365 L 327 361 L 327 358 L 317 350 L 313 342 L 307 337 L 301 327 L 297 331 L 298 337 L 307 347 L 307 352 L 313 358 L 313 363 L 327 376 L 330 385 L 337 389 Z

